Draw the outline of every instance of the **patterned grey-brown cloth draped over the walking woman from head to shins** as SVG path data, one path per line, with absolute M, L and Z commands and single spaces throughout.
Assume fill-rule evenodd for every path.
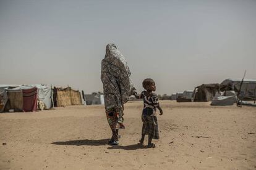
M 101 61 L 101 81 L 103 83 L 104 100 L 106 114 L 116 112 L 117 123 L 123 126 L 124 103 L 129 100 L 129 96 L 135 91 L 134 84 L 130 79 L 130 69 L 124 55 L 114 44 L 106 46 L 105 59 Z M 108 122 L 112 122 L 112 115 L 107 115 Z M 114 119 L 113 119 L 114 120 Z M 110 126 L 110 124 L 109 124 Z M 119 126 L 111 125 L 111 129 Z

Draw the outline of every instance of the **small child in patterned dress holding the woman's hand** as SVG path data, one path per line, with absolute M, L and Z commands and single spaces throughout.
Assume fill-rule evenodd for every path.
M 134 92 L 137 99 L 143 99 L 144 108 L 142 111 L 142 139 L 139 140 L 140 144 L 143 144 L 145 135 L 148 134 L 148 148 L 154 148 L 155 144 L 151 143 L 152 139 L 159 139 L 158 122 L 156 119 L 156 108 L 160 111 L 160 115 L 163 115 L 158 97 L 153 91 L 156 91 L 155 81 L 151 78 L 143 80 L 143 91 L 140 95 Z

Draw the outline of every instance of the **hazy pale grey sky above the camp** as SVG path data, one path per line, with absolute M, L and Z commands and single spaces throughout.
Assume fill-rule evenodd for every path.
M 139 91 L 256 79 L 256 1 L 1 1 L 0 84 L 102 91 L 114 42 Z

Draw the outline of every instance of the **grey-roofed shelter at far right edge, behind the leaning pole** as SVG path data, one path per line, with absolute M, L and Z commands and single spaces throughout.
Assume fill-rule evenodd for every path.
M 221 84 L 227 86 L 227 90 L 238 92 L 241 85 L 241 79 L 225 79 Z M 256 99 L 256 79 L 244 79 L 241 87 L 242 100 Z

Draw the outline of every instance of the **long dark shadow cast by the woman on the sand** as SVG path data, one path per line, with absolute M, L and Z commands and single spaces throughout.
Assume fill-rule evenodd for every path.
M 101 146 L 101 145 L 107 145 L 109 139 L 99 139 L 99 140 L 90 140 L 90 139 L 84 139 L 84 140 L 69 140 L 64 142 L 53 142 L 51 144 L 54 145 L 90 145 L 90 146 Z

